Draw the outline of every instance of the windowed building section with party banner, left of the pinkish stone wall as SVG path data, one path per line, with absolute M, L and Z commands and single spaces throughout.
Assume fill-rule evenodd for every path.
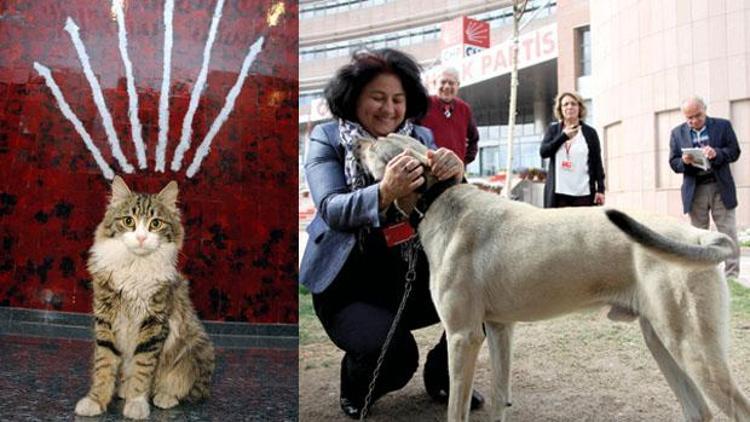
M 522 39 L 520 48 L 514 168 L 542 166 L 539 142 L 557 91 L 556 5 L 556 1 L 532 0 L 522 21 L 522 38 L 525 34 L 528 40 L 524 43 Z M 480 133 L 478 158 L 468 171 L 487 176 L 503 168 L 510 92 L 509 0 L 301 2 L 300 151 L 311 128 L 328 118 L 322 100 L 325 84 L 354 51 L 363 47 L 398 48 L 413 55 L 429 75 L 442 66 L 441 24 L 461 16 L 487 22 L 491 43 L 488 51 L 479 53 L 483 57 L 470 57 L 456 66 L 462 72 L 459 96 L 472 106 Z M 548 32 L 553 37 L 543 38 Z

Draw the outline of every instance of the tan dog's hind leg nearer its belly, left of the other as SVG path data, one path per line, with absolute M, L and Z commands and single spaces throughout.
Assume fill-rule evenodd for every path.
M 675 362 L 672 354 L 664 347 L 661 339 L 654 332 L 651 323 L 644 317 L 641 317 L 641 331 L 646 341 L 646 346 L 656 359 L 659 369 L 667 379 L 669 386 L 677 396 L 682 406 L 682 412 L 685 420 L 688 422 L 703 422 L 711 420 L 711 410 L 703 398 L 703 394 L 695 382 L 685 371 Z

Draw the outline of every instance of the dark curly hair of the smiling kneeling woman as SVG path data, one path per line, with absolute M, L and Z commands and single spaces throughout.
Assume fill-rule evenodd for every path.
M 382 73 L 396 75 L 406 93 L 405 118 L 419 119 L 427 112 L 429 99 L 422 85 L 420 67 L 413 57 L 392 48 L 360 50 L 328 82 L 324 95 L 331 114 L 357 121 L 357 100 L 362 89 Z

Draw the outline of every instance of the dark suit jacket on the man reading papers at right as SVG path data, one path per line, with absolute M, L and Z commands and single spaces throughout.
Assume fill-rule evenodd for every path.
M 716 117 L 706 118 L 706 129 L 708 130 L 708 145 L 716 150 L 716 157 L 710 161 L 711 170 L 719 184 L 721 201 L 727 209 L 733 209 L 737 207 L 737 189 L 734 186 L 729 163 L 737 161 L 740 157 L 737 135 L 734 134 L 729 120 Z M 672 129 L 672 136 L 669 140 L 669 165 L 676 173 L 683 174 L 682 211 L 686 214 L 693 207 L 695 176 L 700 171 L 699 168 L 682 162 L 682 148 L 692 147 L 693 141 L 690 139 L 690 127 L 687 123 Z

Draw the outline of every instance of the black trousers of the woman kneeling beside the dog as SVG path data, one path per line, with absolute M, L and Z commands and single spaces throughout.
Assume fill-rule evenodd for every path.
M 343 269 L 322 293 L 313 295 L 315 313 L 333 343 L 345 354 L 341 393 L 361 405 L 378 356 L 403 297 L 407 263 L 401 246 L 388 248 L 382 233 L 363 236 Z M 405 386 L 417 370 L 419 351 L 411 330 L 440 322 L 429 294 L 427 258 L 420 250 L 417 278 L 380 369 L 374 398 Z M 445 334 L 428 354 L 430 379 L 448 383 Z M 373 400 L 374 401 L 374 400 Z

